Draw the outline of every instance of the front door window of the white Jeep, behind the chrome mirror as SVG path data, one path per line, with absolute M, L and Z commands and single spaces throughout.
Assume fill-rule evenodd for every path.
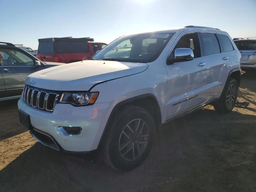
M 180 40 L 177 42 L 174 50 L 176 48 L 191 48 L 194 52 L 195 58 L 201 57 L 197 33 L 189 33 L 182 36 Z

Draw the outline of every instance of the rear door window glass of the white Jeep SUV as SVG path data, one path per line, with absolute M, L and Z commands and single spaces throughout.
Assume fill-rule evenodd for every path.
M 204 56 L 220 53 L 220 45 L 213 33 L 201 33 L 202 44 L 204 47 Z

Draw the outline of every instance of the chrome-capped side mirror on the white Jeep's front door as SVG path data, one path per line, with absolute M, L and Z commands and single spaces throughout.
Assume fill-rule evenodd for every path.
M 194 52 L 190 48 L 177 48 L 174 50 L 174 62 L 184 62 L 194 59 Z

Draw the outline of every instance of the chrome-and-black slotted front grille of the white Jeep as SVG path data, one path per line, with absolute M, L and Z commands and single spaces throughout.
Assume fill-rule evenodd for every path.
M 28 105 L 49 112 L 54 110 L 59 97 L 58 93 L 47 92 L 27 85 L 24 86 L 22 92 L 22 98 Z

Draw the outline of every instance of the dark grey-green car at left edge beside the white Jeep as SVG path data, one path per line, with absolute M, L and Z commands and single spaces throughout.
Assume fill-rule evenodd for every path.
M 11 43 L 0 42 L 0 101 L 21 96 L 26 77 L 62 63 L 43 63 Z

